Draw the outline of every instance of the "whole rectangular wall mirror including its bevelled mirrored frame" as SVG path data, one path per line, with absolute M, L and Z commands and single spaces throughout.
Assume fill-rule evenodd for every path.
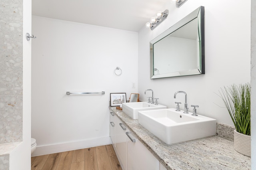
M 204 74 L 204 6 L 150 42 L 150 79 Z

